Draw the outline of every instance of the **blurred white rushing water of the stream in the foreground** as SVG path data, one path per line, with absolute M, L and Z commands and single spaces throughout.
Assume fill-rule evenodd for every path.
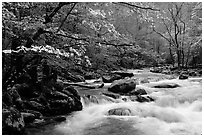
M 139 72 L 137 73 L 139 74 Z M 136 73 L 135 73 L 136 75 Z M 177 88 L 153 88 L 159 84 L 176 83 Z M 202 134 L 202 78 L 187 80 L 163 79 L 137 85 L 155 99 L 153 102 L 132 102 L 122 99 L 101 99 L 86 103 L 66 122 L 39 134 L 78 135 L 195 135 Z M 127 108 L 129 116 L 108 115 L 115 108 Z

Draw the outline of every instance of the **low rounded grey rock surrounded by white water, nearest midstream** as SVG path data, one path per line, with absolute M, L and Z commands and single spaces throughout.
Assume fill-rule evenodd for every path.
M 131 110 L 128 108 L 115 108 L 108 111 L 108 115 L 130 116 Z

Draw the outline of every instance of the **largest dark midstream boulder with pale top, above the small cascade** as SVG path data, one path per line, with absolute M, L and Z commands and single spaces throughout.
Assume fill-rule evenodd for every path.
M 119 94 L 127 94 L 134 90 L 135 87 L 136 81 L 133 79 L 117 80 L 110 85 L 108 91 Z

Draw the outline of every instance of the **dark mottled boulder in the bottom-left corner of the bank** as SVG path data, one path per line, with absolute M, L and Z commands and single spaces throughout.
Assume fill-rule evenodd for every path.
M 24 127 L 23 117 L 17 109 L 2 110 L 2 134 L 22 134 Z

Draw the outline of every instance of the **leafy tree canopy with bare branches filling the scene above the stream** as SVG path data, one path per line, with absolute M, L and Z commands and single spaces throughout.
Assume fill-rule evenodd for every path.
M 202 62 L 201 2 L 3 2 L 2 49 L 93 68 Z

